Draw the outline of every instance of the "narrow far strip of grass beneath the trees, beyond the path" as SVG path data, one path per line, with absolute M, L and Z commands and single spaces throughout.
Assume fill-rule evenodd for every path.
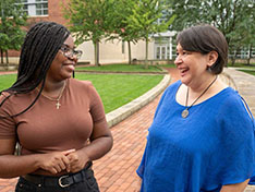
M 88 65 L 88 67 L 76 67 L 76 71 L 86 70 L 86 71 L 112 71 L 112 72 L 160 72 L 160 68 L 156 65 L 148 65 L 148 69 L 145 69 L 143 64 L 104 64 L 100 67 Z

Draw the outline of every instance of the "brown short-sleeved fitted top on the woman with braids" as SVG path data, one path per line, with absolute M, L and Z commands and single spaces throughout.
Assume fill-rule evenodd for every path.
M 21 112 L 37 94 L 35 89 L 11 96 L 0 107 L 0 116 Z M 7 96 L 8 93 L 2 93 L 0 101 Z M 0 119 L 0 139 L 14 137 L 17 133 L 22 154 L 47 153 L 82 148 L 87 144 L 95 123 L 107 128 L 101 99 L 88 81 L 69 79 L 59 109 L 56 103 L 40 95 L 28 111 L 14 118 Z

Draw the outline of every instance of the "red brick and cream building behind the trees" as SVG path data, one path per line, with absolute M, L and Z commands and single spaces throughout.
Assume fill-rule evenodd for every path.
M 62 9 L 64 7 L 62 0 L 22 0 L 24 10 L 28 14 L 28 27 L 39 21 L 53 21 L 66 26 L 63 17 Z M 65 1 L 66 3 L 66 1 Z M 148 59 L 150 60 L 168 60 L 172 59 L 172 36 L 168 32 L 161 34 L 163 40 L 158 40 L 159 36 L 155 36 L 149 43 Z M 77 47 L 83 50 L 81 62 L 94 63 L 94 46 L 92 41 L 85 41 Z M 145 59 L 145 41 L 138 41 L 132 45 L 132 58 L 136 60 Z M 10 62 L 19 62 L 19 51 L 9 51 Z M 99 45 L 99 62 L 100 63 L 120 63 L 127 62 L 129 52 L 127 44 L 123 41 L 101 41 Z

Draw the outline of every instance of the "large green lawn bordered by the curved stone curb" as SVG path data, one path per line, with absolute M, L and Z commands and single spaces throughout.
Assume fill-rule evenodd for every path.
M 163 75 L 76 73 L 75 77 L 93 82 L 108 113 L 156 86 Z M 0 75 L 0 91 L 11 86 L 15 79 L 16 74 Z

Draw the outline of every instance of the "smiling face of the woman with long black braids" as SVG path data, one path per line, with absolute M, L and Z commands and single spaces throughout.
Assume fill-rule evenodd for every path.
M 74 49 L 73 38 L 69 36 L 63 43 L 63 46 Z M 74 67 L 77 62 L 75 57 L 68 58 L 62 50 L 59 50 L 56 55 L 49 71 L 47 72 L 47 79 L 51 81 L 62 81 L 70 79 L 73 74 Z

